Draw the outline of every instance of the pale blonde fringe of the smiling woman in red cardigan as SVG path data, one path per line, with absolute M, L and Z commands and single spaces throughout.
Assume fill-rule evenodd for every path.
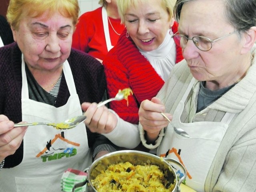
M 124 14 L 126 13 L 127 9 L 130 8 L 130 6 L 138 8 L 140 2 L 146 3 L 147 1 L 148 0 L 117 0 L 116 4 L 122 23 L 124 23 Z M 158 2 L 160 2 L 162 4 L 162 7 L 168 12 L 169 19 L 173 18 L 173 9 L 176 0 L 158 0 Z

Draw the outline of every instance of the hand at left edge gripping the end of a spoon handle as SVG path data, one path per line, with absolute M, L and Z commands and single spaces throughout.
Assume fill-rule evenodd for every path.
M 19 148 L 28 127 L 16 127 L 5 115 L 0 115 L 0 162 Z

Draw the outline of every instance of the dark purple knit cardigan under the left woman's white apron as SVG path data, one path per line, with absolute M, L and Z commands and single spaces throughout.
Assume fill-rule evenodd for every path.
M 83 102 L 96 102 L 102 100 L 106 89 L 106 79 L 103 66 L 94 57 L 72 49 L 68 62 L 73 74 L 76 91 Z M 22 121 L 21 109 L 21 51 L 16 43 L 0 48 L 0 114 L 6 115 L 14 123 Z M 70 97 L 65 75 L 62 75 L 58 97 L 55 107 L 63 106 Z M 94 150 L 99 145 L 109 144 L 114 147 L 104 136 L 91 133 L 86 128 L 88 145 Z M 5 158 L 4 168 L 20 164 L 23 158 L 23 142 L 13 155 Z

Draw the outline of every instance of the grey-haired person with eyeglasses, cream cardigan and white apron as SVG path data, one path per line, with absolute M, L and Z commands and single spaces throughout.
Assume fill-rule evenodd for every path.
M 174 13 L 184 60 L 141 103 L 142 143 L 180 161 L 197 192 L 255 191 L 256 0 L 177 0 Z

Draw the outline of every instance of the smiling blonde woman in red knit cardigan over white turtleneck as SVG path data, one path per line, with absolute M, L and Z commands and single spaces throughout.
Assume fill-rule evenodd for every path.
M 117 0 L 126 30 L 103 60 L 108 97 L 130 87 L 134 95 L 110 102 L 110 109 L 83 103 L 85 123 L 120 147 L 140 144 L 138 110 L 144 99 L 156 96 L 175 63 L 183 59 L 171 35 L 177 32 L 173 19 L 175 0 Z M 142 148 L 137 148 L 144 150 Z M 103 153 L 103 152 L 102 152 Z

